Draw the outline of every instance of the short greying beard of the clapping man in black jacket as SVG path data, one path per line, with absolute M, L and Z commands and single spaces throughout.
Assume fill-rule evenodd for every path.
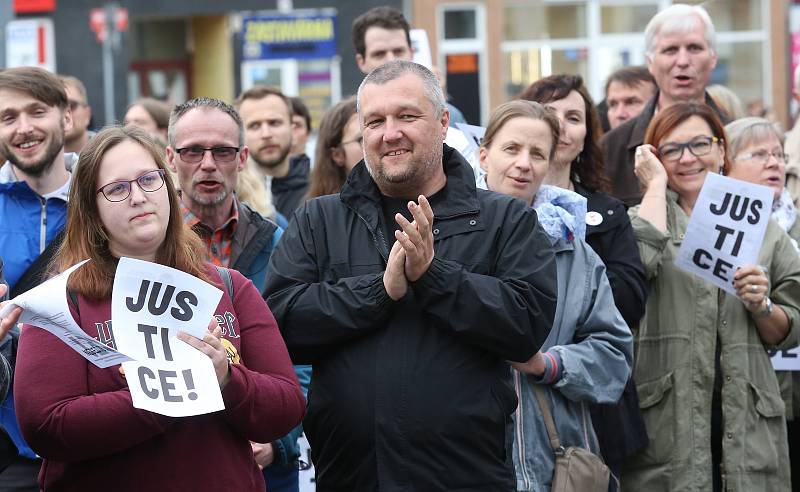
M 364 163 L 381 193 L 392 197 L 416 198 L 437 166 L 442 165 L 442 142 L 425 149 L 419 157 L 410 161 L 399 173 L 388 173 L 380 158 L 373 159 L 366 155 L 366 152 Z

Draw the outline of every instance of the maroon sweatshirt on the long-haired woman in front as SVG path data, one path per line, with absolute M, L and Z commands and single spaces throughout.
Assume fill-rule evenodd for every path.
M 213 267 L 209 275 L 222 285 Z M 100 369 L 50 333 L 23 328 L 14 402 L 44 458 L 42 490 L 264 492 L 249 441 L 286 435 L 305 400 L 275 318 L 250 280 L 231 276 L 233 303 L 224 294 L 216 309 L 233 362 L 219 412 L 172 418 L 133 408 L 119 366 Z M 81 328 L 114 347 L 111 299 L 79 298 L 79 308 Z

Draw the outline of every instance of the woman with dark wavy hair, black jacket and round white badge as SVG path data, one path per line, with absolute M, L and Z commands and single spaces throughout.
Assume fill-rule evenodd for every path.
M 536 101 L 559 119 L 561 133 L 545 184 L 586 197 L 586 242 L 603 260 L 614 302 L 635 330 L 644 314 L 647 284 L 625 206 L 605 192 L 602 136 L 594 102 L 577 75 L 553 75 L 534 82 L 520 99 Z M 636 388 L 631 381 L 616 405 L 595 405 L 592 420 L 600 449 L 615 473 L 625 460 L 647 444 Z

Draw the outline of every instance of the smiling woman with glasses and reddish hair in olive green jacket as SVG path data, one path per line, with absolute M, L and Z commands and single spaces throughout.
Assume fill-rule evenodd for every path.
M 706 105 L 656 114 L 635 168 L 630 210 L 650 282 L 636 333 L 634 380 L 650 442 L 625 466 L 623 490 L 789 490 L 785 408 L 768 348 L 796 343 L 800 257 L 770 220 L 736 295 L 675 265 L 709 173 L 730 170 L 726 135 Z

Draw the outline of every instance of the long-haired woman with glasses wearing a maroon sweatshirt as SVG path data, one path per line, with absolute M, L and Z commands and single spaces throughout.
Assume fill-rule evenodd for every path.
M 163 154 L 134 127 L 110 127 L 81 153 L 70 190 L 57 271 L 90 259 L 67 284 L 75 322 L 91 337 L 111 337 L 111 289 L 118 260 L 132 257 L 223 286 L 203 261 L 200 238 L 184 225 Z M 171 418 L 133 407 L 125 375 L 101 369 L 58 338 L 24 327 L 16 365 L 20 428 L 44 458 L 47 490 L 264 491 L 250 441 L 270 442 L 303 417 L 305 401 L 275 319 L 252 282 L 228 271 L 202 339 L 178 338 L 212 361 L 225 409 Z M 234 292 L 231 298 L 231 292 Z M 16 314 L 18 318 L 19 314 Z M 229 325 L 223 333 L 217 324 Z M 14 319 L 3 319 L 2 326 Z M 130 376 L 130 375 L 128 375 Z

